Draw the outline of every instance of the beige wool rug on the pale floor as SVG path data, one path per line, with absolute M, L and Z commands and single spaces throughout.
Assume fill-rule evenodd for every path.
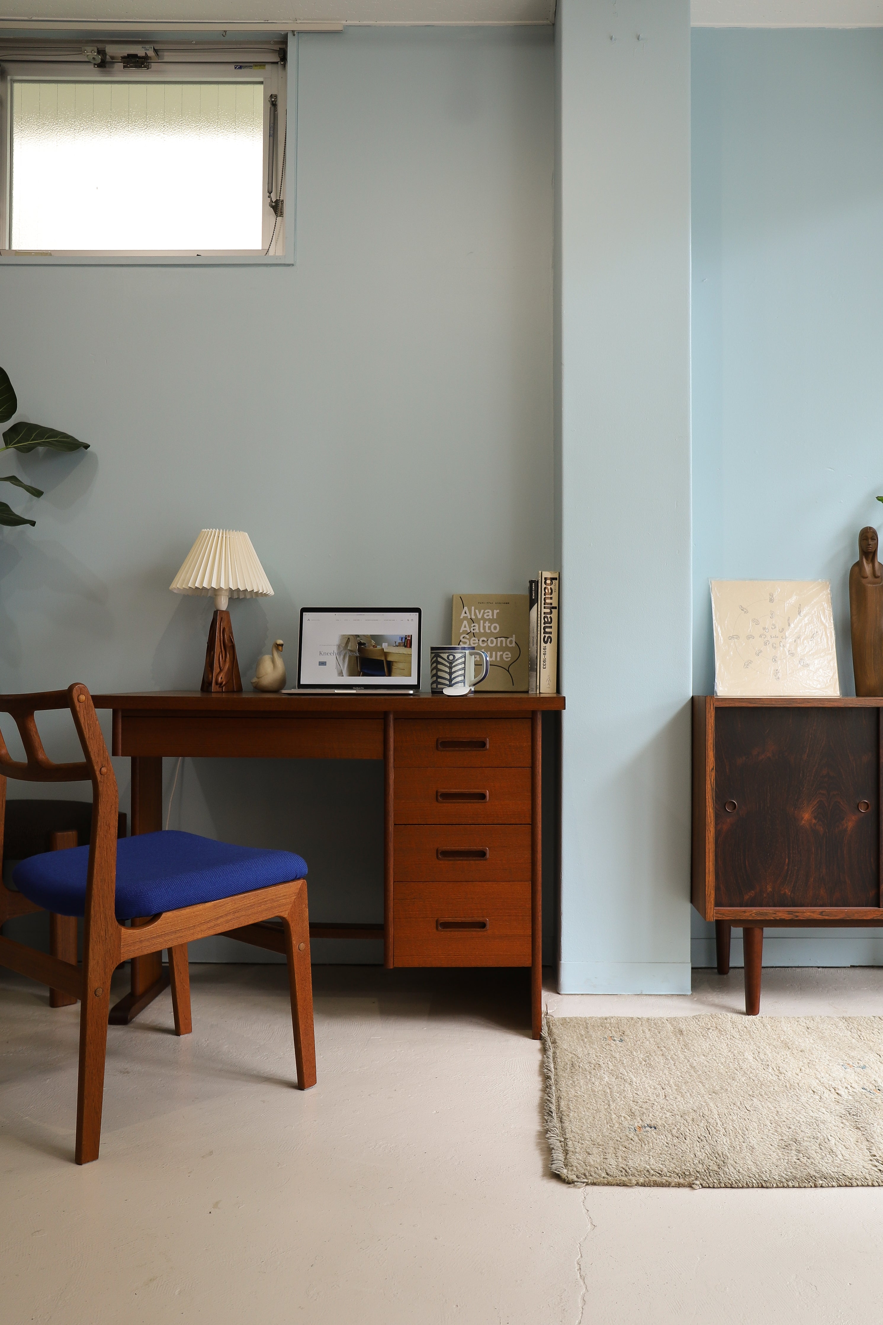
M 547 1016 L 543 1045 L 565 1182 L 883 1185 L 883 1018 Z

